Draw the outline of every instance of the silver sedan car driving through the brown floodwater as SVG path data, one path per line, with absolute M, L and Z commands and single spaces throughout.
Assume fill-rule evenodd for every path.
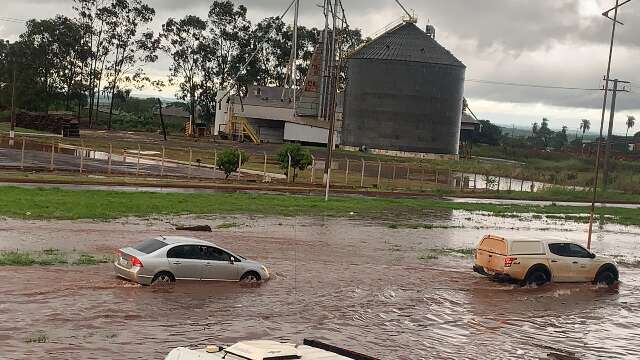
M 176 280 L 260 281 L 269 270 L 208 241 L 161 236 L 118 250 L 116 274 L 142 285 Z

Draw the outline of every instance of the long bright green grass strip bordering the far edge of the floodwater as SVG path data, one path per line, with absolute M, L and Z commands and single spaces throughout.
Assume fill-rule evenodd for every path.
M 429 209 L 513 214 L 588 214 L 588 207 L 454 203 L 437 199 L 272 195 L 256 193 L 149 193 L 56 188 L 0 187 L 0 216 L 21 219 L 117 219 L 127 216 L 245 214 L 331 216 L 368 219 L 377 215 L 420 218 Z M 610 222 L 640 225 L 640 209 L 599 208 Z

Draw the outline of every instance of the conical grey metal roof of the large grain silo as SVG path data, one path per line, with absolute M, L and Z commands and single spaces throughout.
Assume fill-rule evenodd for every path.
M 404 23 L 356 50 L 350 59 L 410 61 L 465 67 L 415 24 Z

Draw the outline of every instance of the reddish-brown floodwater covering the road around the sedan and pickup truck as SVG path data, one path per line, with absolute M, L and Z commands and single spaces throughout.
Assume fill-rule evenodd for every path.
M 391 222 L 418 221 L 394 217 L 0 220 L 0 249 L 111 253 L 152 236 L 186 234 L 261 260 L 275 274 L 257 287 L 140 287 L 114 277 L 109 265 L 0 267 L 0 358 L 161 359 L 176 346 L 305 337 L 381 359 L 640 357 L 640 228 L 598 229 L 594 250 L 621 261 L 616 289 L 519 288 L 474 274 L 462 255 L 419 257 L 471 248 L 486 233 L 582 240 L 586 226 L 443 210 L 419 220 L 456 228 L 391 229 Z M 238 226 L 172 230 L 228 222 Z

